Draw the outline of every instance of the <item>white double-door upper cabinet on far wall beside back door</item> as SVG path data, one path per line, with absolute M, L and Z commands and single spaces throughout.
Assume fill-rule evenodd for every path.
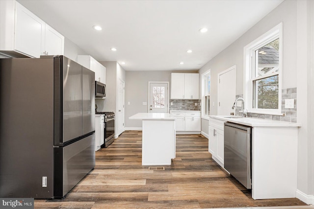
M 199 73 L 171 73 L 171 99 L 198 99 Z

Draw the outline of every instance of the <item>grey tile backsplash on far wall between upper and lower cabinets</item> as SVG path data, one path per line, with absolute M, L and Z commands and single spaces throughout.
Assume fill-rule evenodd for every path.
M 172 102 L 172 105 L 171 105 Z M 195 103 L 197 104 L 195 106 Z M 170 99 L 169 110 L 201 110 L 200 99 Z

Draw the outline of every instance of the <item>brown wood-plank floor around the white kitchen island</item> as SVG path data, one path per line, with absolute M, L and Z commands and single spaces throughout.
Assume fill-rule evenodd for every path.
M 96 166 L 64 199 L 35 200 L 40 209 L 235 208 L 306 206 L 296 199 L 253 200 L 208 152 L 202 135 L 177 135 L 165 170 L 141 165 L 141 131 L 126 131 L 96 152 Z M 162 155 L 162 153 L 160 153 Z

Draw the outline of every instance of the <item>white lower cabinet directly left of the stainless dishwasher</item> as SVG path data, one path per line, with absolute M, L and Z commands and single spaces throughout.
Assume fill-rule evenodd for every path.
M 224 167 L 224 121 L 209 118 L 208 151 L 212 159 Z

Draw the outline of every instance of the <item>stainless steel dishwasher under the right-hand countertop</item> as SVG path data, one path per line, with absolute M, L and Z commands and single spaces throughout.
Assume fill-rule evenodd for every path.
M 251 132 L 251 126 L 224 123 L 224 167 L 248 189 L 252 186 Z

